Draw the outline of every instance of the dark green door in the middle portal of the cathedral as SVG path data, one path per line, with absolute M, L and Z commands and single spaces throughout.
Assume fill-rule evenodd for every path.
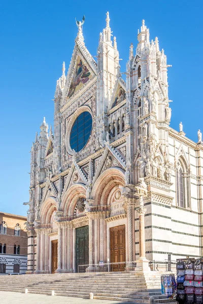
M 76 229 L 76 272 L 85 272 L 85 265 L 89 263 L 89 226 L 83 226 Z

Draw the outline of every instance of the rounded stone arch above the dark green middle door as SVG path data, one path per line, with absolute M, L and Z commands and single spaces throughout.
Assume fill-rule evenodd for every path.
M 86 198 L 86 189 L 83 183 L 77 183 L 67 189 L 61 202 L 63 216 L 74 216 L 78 198 Z

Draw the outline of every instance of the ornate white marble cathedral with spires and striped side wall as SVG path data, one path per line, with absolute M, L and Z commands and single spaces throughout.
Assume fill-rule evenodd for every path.
M 193 142 L 170 127 L 157 37 L 143 20 L 124 81 L 109 13 L 97 62 L 83 23 L 56 84 L 53 131 L 44 119 L 31 147 L 28 273 L 202 256 L 201 133 Z

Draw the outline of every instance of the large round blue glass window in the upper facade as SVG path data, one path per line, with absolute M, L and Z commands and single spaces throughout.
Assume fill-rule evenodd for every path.
M 70 145 L 72 150 L 79 152 L 88 142 L 92 130 L 92 116 L 89 112 L 82 112 L 75 120 L 71 129 Z

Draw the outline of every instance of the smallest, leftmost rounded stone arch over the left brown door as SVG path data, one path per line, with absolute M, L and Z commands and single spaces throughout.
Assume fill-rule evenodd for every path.
M 47 198 L 40 208 L 40 218 L 42 224 L 51 223 L 53 213 L 57 210 L 56 198 Z

